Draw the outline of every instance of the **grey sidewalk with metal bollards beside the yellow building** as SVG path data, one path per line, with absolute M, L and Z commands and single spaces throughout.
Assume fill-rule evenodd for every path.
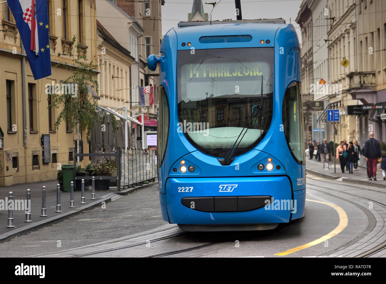
M 79 211 L 80 207 L 85 207 L 90 205 L 91 202 L 101 201 L 102 197 L 112 191 L 95 191 L 96 200 L 91 200 L 91 191 L 85 191 L 85 202 L 86 204 L 80 204 L 81 201 L 81 191 L 74 192 L 74 206 L 75 208 L 69 208 L 70 201 L 70 192 L 61 191 L 61 211 L 62 213 L 56 213 L 56 185 L 58 184 L 57 180 L 49 180 L 44 182 L 34 182 L 28 184 L 16 184 L 8 187 L 0 187 L 0 200 L 5 202 L 5 198 L 8 198 L 9 192 L 12 191 L 15 199 L 26 199 L 27 189 L 31 190 L 31 220 L 32 222 L 24 222 L 25 220 L 25 211 L 24 210 L 14 210 L 14 226 L 15 228 L 7 228 L 7 218 L 8 210 L 0 210 L 0 234 L 8 233 L 14 231 L 23 226 L 36 224 L 39 221 L 47 220 L 54 216 L 61 216 L 65 213 L 71 211 Z M 42 206 L 42 187 L 46 187 L 46 208 L 47 208 L 47 217 L 40 217 L 41 206 Z M 86 187 L 87 189 L 87 187 Z M 95 206 L 95 205 L 94 205 Z M 3 208 L 2 208 L 3 209 Z

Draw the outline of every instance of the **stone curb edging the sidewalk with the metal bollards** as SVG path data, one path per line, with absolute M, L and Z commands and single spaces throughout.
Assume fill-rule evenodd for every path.
M 127 194 L 130 194 L 131 192 L 134 192 L 135 190 L 144 189 L 144 188 L 149 187 L 155 183 L 157 183 L 157 182 L 151 182 L 150 184 L 140 185 L 140 186 L 134 187 L 132 189 L 125 189 L 125 190 L 122 190 L 120 192 L 112 192 L 112 193 L 119 194 L 119 195 L 127 195 Z M 75 210 L 71 210 L 69 212 L 66 212 L 66 213 L 63 213 L 63 214 L 60 214 L 57 216 L 52 216 L 50 218 L 38 221 L 36 223 L 22 226 L 20 228 L 9 231 L 7 233 L 3 233 L 0 235 L 0 243 L 3 243 L 4 241 L 8 241 L 8 240 L 15 238 L 17 236 L 26 235 L 32 231 L 39 230 L 40 228 L 43 228 L 45 226 L 48 226 L 48 225 L 51 225 L 54 223 L 58 223 L 59 221 L 62 221 L 62 220 L 67 219 L 69 217 L 72 217 L 76 214 L 82 213 L 83 211 L 85 211 L 87 209 L 91 209 L 93 207 L 96 207 L 99 204 L 102 204 L 102 202 L 106 202 L 106 203 L 111 202 L 111 198 L 112 198 L 111 196 L 104 197 L 104 198 L 101 198 L 97 201 L 91 202 L 90 204 L 79 207 Z

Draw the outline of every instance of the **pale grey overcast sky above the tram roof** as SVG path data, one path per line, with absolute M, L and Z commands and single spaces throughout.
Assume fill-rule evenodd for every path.
M 204 12 L 210 14 L 213 5 L 205 2 L 215 0 L 202 0 Z M 216 1 L 218 3 L 218 0 Z M 243 19 L 273 19 L 283 18 L 287 24 L 290 22 L 298 32 L 301 42 L 300 27 L 295 19 L 298 15 L 301 0 L 241 0 L 241 11 Z M 188 20 L 188 13 L 191 12 L 193 0 L 165 0 L 162 7 L 162 35 L 172 27 L 177 27 L 178 22 Z M 221 0 L 212 12 L 212 20 L 231 19 L 235 20 L 235 2 L 232 0 Z

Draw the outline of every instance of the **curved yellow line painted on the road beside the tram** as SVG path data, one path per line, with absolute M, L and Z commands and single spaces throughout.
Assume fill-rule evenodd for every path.
M 317 245 L 318 243 L 321 243 L 325 240 L 328 240 L 329 238 L 332 238 L 333 236 L 338 235 L 341 231 L 343 231 L 344 228 L 347 227 L 347 223 L 348 223 L 347 214 L 345 213 L 345 211 L 341 207 L 339 207 L 335 204 L 332 204 L 332 203 L 327 203 L 327 202 L 322 202 L 322 201 L 317 201 L 317 200 L 306 199 L 306 201 L 318 202 L 318 203 L 326 204 L 326 205 L 334 208 L 338 212 L 338 215 L 339 215 L 338 226 L 334 230 L 332 230 L 330 233 L 328 233 L 327 235 L 324 235 L 315 241 L 312 241 L 310 243 L 306 243 L 305 245 L 301 245 L 301 246 L 296 247 L 296 248 L 291 248 L 290 250 L 286 250 L 285 252 L 276 253 L 275 255 L 288 255 L 289 253 L 298 252 L 299 250 L 303 250 L 305 248 L 312 247 L 313 245 Z

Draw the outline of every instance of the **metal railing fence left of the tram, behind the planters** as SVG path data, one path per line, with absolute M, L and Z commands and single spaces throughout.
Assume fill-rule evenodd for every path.
M 154 181 L 157 171 L 155 157 L 155 150 L 122 150 L 120 187 Z

